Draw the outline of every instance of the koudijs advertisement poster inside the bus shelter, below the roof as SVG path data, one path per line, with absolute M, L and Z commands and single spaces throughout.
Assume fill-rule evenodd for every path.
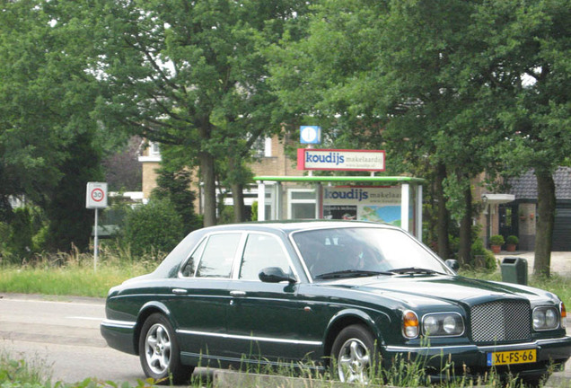
M 323 188 L 323 217 L 400 226 L 400 187 Z

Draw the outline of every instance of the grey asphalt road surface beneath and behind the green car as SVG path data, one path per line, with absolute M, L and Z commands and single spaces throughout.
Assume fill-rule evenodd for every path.
M 0 295 L 0 353 L 45 368 L 53 382 L 76 383 L 91 377 L 136 384 L 145 379 L 138 357 L 108 348 L 101 338 L 104 311 L 104 301 L 96 298 Z M 195 374 L 211 377 L 204 369 Z M 547 385 L 568 387 L 570 380 L 571 361 Z

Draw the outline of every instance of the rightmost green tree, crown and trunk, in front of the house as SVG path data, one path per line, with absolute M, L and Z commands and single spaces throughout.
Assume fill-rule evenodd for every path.
M 507 172 L 535 172 L 533 271 L 549 276 L 556 206 L 553 172 L 571 154 L 571 2 L 488 1 L 478 15 L 488 31 L 482 57 L 489 58 L 489 80 L 503 97 L 494 108 L 505 125 L 505 141 L 494 151 L 503 156 Z

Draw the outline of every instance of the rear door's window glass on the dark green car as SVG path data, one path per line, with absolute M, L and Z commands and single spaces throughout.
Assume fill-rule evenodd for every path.
M 242 234 L 213 234 L 208 238 L 198 265 L 198 278 L 230 278 Z

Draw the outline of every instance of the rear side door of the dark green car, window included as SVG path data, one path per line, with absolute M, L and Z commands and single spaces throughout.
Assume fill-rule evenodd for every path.
M 241 245 L 242 232 L 206 236 L 172 283 L 171 315 L 183 359 L 218 366 L 224 355 L 228 282 Z

